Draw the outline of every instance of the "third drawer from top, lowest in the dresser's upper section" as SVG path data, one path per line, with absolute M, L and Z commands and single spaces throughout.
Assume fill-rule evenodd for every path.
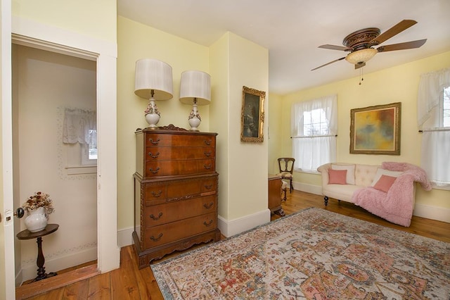
M 191 175 L 212 173 L 216 169 L 214 159 L 193 159 L 186 161 L 151 161 L 147 162 L 145 177 L 170 175 Z

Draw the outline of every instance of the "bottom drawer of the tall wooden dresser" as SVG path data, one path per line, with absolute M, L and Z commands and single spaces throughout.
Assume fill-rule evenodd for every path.
M 147 227 L 143 235 L 144 249 L 199 235 L 217 227 L 217 214 L 209 213 L 155 227 Z

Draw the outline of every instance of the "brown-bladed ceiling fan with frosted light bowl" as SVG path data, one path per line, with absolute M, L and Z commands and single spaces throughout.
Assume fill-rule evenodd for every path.
M 377 49 L 373 48 L 373 46 L 378 46 L 387 39 L 394 37 L 394 35 L 398 35 L 400 32 L 408 29 L 416 23 L 417 22 L 415 20 L 402 20 L 397 25 L 394 25 L 389 30 L 383 32 L 381 35 L 380 29 L 378 28 L 365 28 L 347 35 L 347 37 L 345 37 L 342 41 L 344 46 L 329 44 L 321 45 L 319 48 L 349 51 L 350 53 L 347 54 L 347 56 L 336 59 L 335 61 L 330 61 L 324 65 L 319 65 L 319 67 L 314 68 L 311 71 L 322 68 L 330 63 L 335 63 L 336 61 L 342 61 L 342 59 L 354 64 L 355 69 L 359 69 L 364 67 L 364 65 L 366 65 L 366 61 L 373 58 L 373 56 L 379 52 L 419 48 L 427 42 L 427 39 L 418 39 L 417 41 L 379 46 Z

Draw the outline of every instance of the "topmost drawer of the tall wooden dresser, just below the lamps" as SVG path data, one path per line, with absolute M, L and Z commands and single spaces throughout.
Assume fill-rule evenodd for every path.
M 146 146 L 216 146 L 216 139 L 207 135 L 162 135 L 158 133 L 147 133 Z

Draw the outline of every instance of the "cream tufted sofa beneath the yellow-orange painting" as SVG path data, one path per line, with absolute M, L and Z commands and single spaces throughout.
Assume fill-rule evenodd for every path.
M 347 170 L 347 184 L 334 185 L 329 184 L 328 170 Z M 317 170 L 322 175 L 322 194 L 325 205 L 328 205 L 328 197 L 347 202 L 352 202 L 353 193 L 357 189 L 370 187 L 375 179 L 380 165 L 362 165 L 358 163 L 326 163 Z

